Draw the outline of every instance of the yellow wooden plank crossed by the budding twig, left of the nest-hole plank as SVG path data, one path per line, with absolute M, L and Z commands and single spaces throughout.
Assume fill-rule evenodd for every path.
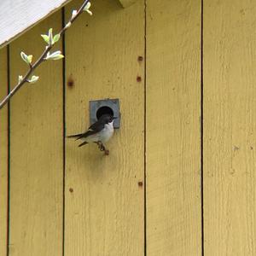
M 61 29 L 61 13 L 10 45 L 11 84 L 26 70 L 20 51 L 36 59 L 40 34 Z M 61 44 L 55 49 L 61 48 Z M 10 104 L 10 255 L 61 255 L 62 246 L 62 63 L 47 61 Z

